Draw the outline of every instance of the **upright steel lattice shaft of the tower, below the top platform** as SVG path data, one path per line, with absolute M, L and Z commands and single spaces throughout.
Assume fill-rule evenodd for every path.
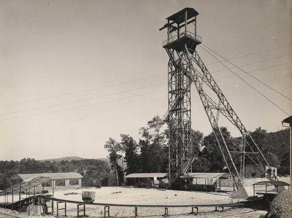
M 164 120 L 169 130 L 169 183 L 191 171 L 194 160 L 191 143 L 192 78 L 185 73 L 187 65 L 183 53 L 166 49 L 168 62 L 168 111 Z

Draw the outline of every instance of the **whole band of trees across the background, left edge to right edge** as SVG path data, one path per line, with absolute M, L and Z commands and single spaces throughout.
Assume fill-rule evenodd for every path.
M 198 157 L 193 162 L 195 172 L 222 172 L 225 163 L 211 132 L 192 131 L 192 149 Z M 231 151 L 241 144 L 241 138 L 232 137 L 226 127 L 221 127 L 225 141 Z M 250 132 L 269 164 L 278 168 L 278 174 L 289 174 L 289 129 L 268 133 L 261 127 Z M 0 161 L 0 190 L 11 186 L 9 179 L 14 174 L 78 172 L 83 176 L 82 186 L 116 185 L 123 183 L 130 173 L 168 172 L 167 125 L 155 116 L 139 129 L 139 140 L 121 134 L 120 140 L 109 138 L 104 147 L 109 151 L 107 162 L 85 159 L 61 162 L 40 162 L 31 158 L 20 161 Z M 118 164 L 122 160 L 122 164 Z M 234 159 L 239 164 L 240 158 Z

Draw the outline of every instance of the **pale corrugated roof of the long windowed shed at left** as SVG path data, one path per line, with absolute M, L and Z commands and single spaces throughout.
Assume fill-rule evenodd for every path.
M 52 180 L 64 180 L 64 179 L 79 179 L 83 178 L 79 173 L 33 173 L 33 174 L 15 174 L 11 179 L 21 179 L 22 181 L 28 180 L 34 177 L 49 177 Z

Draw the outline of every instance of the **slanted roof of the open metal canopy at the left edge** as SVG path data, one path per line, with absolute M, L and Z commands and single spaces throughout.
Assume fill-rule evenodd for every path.
M 33 177 L 30 179 L 27 179 L 25 181 L 19 182 L 9 188 L 6 188 L 5 190 L 1 191 L 0 194 L 18 194 L 27 190 L 30 190 L 31 188 L 42 184 L 43 182 L 51 181 L 52 179 L 49 177 Z

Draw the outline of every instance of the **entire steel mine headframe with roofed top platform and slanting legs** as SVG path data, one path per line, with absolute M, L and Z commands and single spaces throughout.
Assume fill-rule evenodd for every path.
M 201 36 L 197 35 L 197 16 L 193 8 L 183 10 L 166 18 L 167 23 L 159 30 L 167 29 L 167 39 L 163 48 L 169 56 L 168 61 L 168 110 L 164 120 L 168 125 L 169 176 L 167 188 L 177 179 L 192 171 L 192 163 L 196 157 L 192 149 L 191 133 L 191 85 L 195 87 L 201 98 L 212 130 L 218 142 L 222 158 L 230 172 L 236 188 L 243 186 L 245 164 L 254 164 L 269 180 L 277 180 L 273 170 L 262 152 L 243 126 L 234 109 L 207 70 L 196 46 L 201 44 Z M 199 70 L 195 68 L 199 67 Z M 196 67 L 197 67 L 196 66 Z M 205 84 L 205 87 L 203 85 Z M 206 91 L 213 92 L 211 98 Z M 219 115 L 225 116 L 241 133 L 241 145 L 235 145 L 230 151 L 226 143 L 229 138 L 219 126 Z M 220 154 L 218 154 L 220 155 Z M 235 163 L 236 161 L 236 163 Z M 270 170 L 268 170 L 270 169 Z M 270 171 L 269 173 L 267 171 Z

